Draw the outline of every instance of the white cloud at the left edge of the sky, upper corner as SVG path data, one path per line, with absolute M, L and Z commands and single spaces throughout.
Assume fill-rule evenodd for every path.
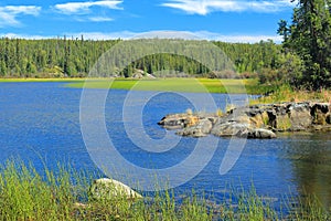
M 35 6 L 7 6 L 0 7 L 0 27 L 14 27 L 20 25 L 17 19 L 20 14 L 28 14 L 38 17 L 41 7 Z

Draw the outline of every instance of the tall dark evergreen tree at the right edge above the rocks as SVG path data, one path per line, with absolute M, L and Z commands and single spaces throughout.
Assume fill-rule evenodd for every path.
M 298 80 L 312 90 L 331 87 L 330 8 L 330 0 L 300 0 L 291 24 L 279 22 L 278 33 L 284 35 L 285 51 L 298 54 L 305 64 Z

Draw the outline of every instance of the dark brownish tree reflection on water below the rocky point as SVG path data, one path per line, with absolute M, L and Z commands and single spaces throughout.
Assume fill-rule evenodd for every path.
M 291 136 L 288 143 L 298 191 L 316 194 L 325 207 L 331 207 L 331 139 L 330 133 Z M 305 200 L 305 199 L 303 199 Z

